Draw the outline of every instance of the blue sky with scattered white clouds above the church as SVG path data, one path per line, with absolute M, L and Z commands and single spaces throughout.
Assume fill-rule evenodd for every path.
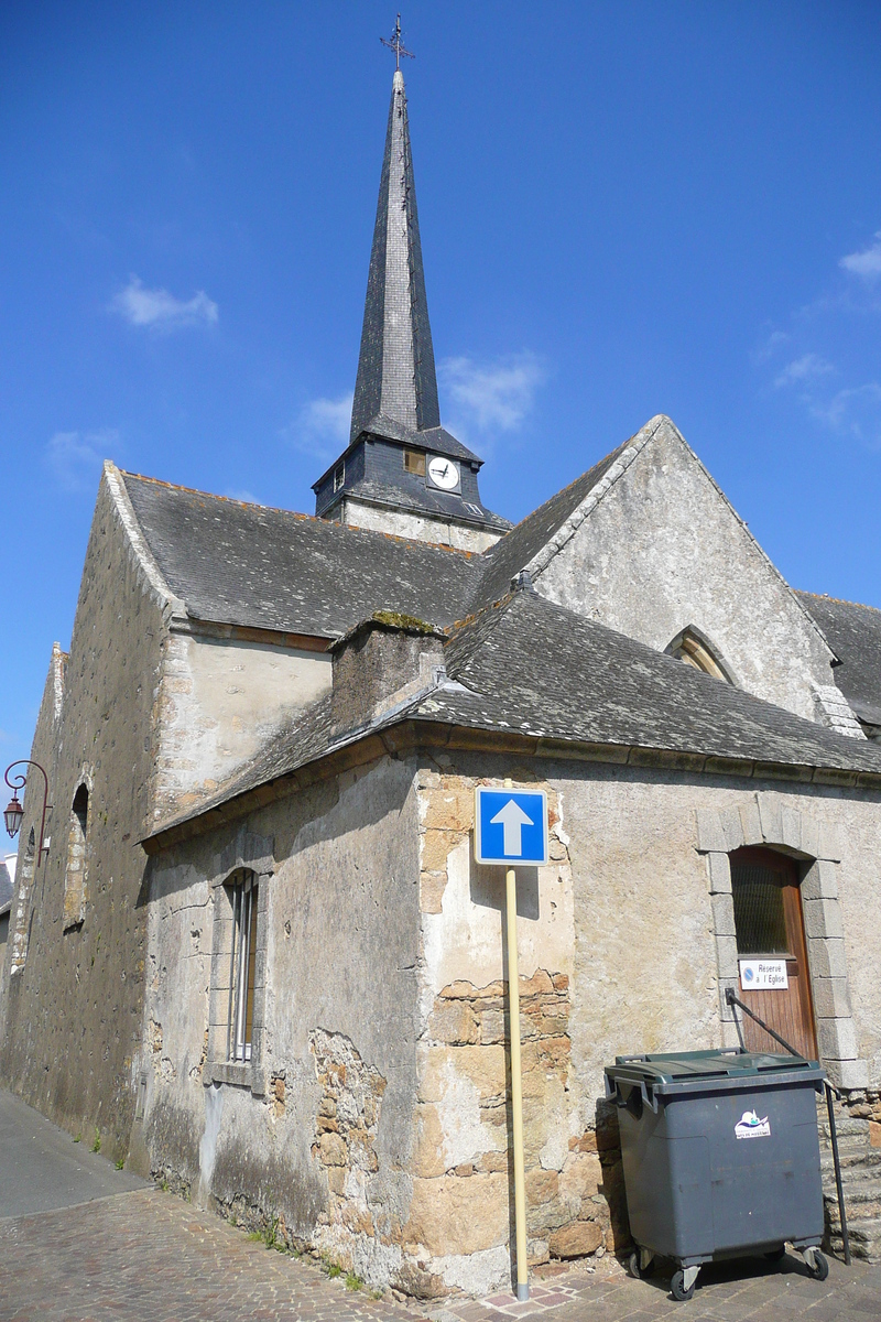
M 312 512 L 354 385 L 395 12 L 0 7 L 0 755 L 100 472 Z M 520 518 L 668 412 L 796 587 L 881 605 L 881 7 L 413 0 L 446 426 Z

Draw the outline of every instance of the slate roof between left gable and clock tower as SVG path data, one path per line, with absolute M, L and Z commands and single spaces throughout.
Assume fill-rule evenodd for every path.
M 337 637 L 374 611 L 461 617 L 479 558 L 123 473 L 166 583 L 198 620 Z

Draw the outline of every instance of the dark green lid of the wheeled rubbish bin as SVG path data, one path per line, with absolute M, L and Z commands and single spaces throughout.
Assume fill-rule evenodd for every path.
M 803 1056 L 790 1056 L 774 1052 L 742 1051 L 670 1051 L 634 1056 L 616 1056 L 613 1066 L 606 1066 L 610 1080 L 625 1083 L 646 1083 L 654 1091 L 674 1092 L 680 1087 L 701 1080 L 736 1085 L 761 1077 L 771 1081 L 782 1075 L 791 1075 L 786 1081 L 810 1083 L 816 1087 L 826 1077 L 816 1060 Z

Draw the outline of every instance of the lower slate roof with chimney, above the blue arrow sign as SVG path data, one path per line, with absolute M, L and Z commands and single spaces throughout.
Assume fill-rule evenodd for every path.
M 330 698 L 322 698 L 218 793 L 153 834 L 402 720 L 523 735 L 555 747 L 600 744 L 627 755 L 645 750 L 757 763 L 759 772 L 771 764 L 793 768 L 794 776 L 808 767 L 881 777 L 881 748 L 873 743 L 795 717 L 534 591 L 509 594 L 452 629 L 445 665 L 445 682 L 349 736 L 334 735 Z

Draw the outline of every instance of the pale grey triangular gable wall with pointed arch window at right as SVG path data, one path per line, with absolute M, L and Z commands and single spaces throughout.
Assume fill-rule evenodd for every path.
M 833 683 L 820 633 L 670 423 L 535 586 L 660 652 L 696 627 L 740 687 L 808 720 L 819 718 L 815 686 Z

